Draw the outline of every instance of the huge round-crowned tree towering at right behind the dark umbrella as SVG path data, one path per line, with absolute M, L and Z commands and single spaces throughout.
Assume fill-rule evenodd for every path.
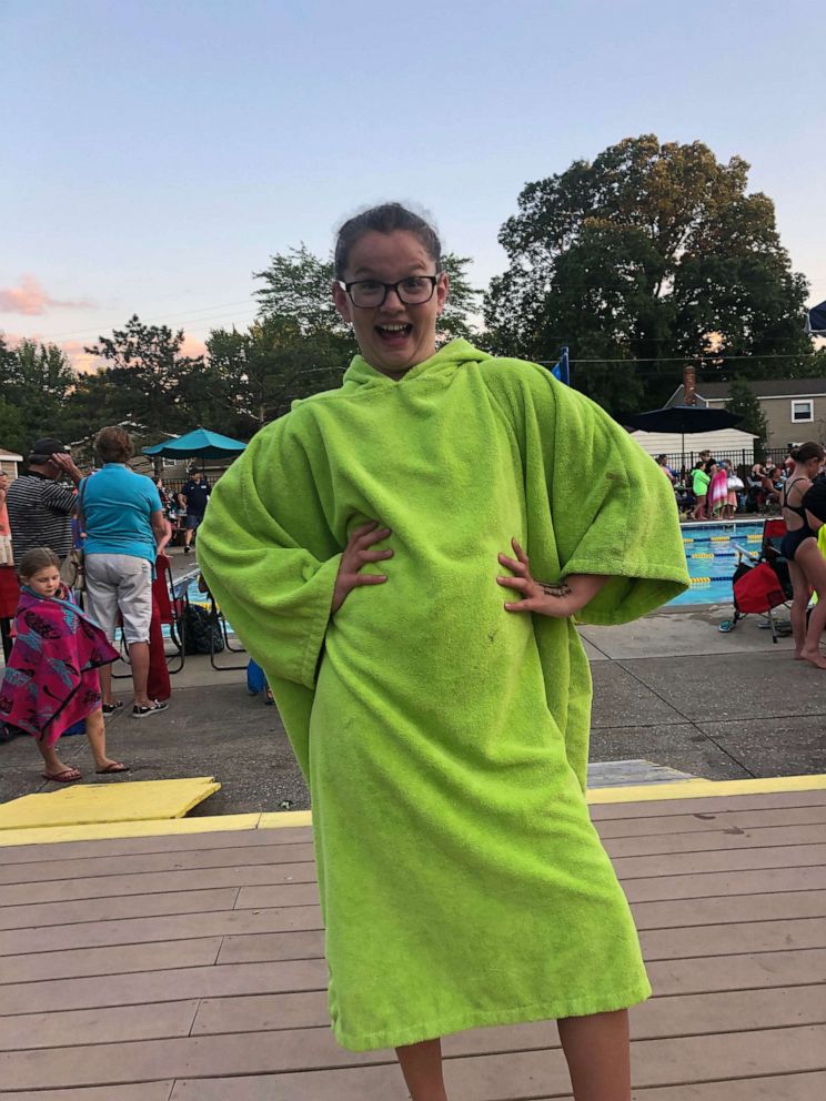
M 510 266 L 485 297 L 488 342 L 541 360 L 571 345 L 575 385 L 615 415 L 638 408 L 641 394 L 651 405 L 667 397 L 679 367 L 664 361 L 810 353 L 806 282 L 770 200 L 746 193 L 747 172 L 702 142 L 647 134 L 526 184 L 500 232 Z M 607 361 L 635 366 L 606 371 Z M 762 373 L 784 363 L 766 358 Z

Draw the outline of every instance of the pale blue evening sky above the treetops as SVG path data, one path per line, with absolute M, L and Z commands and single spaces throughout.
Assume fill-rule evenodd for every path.
M 641 133 L 745 158 L 814 304 L 822 28 L 804 0 L 0 0 L 0 330 L 243 326 L 272 253 L 396 198 L 484 286 L 527 181 Z

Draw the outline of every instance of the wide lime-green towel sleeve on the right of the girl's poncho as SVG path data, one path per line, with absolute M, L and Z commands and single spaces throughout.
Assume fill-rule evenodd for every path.
M 577 613 L 587 624 L 627 623 L 678 596 L 689 584 L 679 516 L 654 459 L 604 410 L 543 367 L 513 366 L 508 400 L 536 521 L 528 550 L 552 576 L 536 575 L 607 575 Z M 547 502 L 542 516 L 540 485 Z

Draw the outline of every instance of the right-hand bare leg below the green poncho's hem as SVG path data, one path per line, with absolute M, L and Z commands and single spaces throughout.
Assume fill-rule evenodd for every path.
M 567 1017 L 556 1024 L 576 1101 L 631 1101 L 627 1010 Z

